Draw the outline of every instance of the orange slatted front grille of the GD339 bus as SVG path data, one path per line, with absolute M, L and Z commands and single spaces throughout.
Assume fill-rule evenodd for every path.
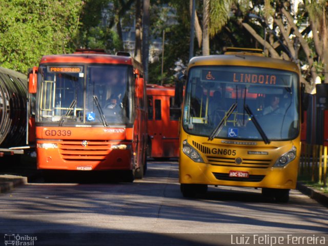
M 63 141 L 58 144 L 61 158 L 66 161 L 104 161 L 110 153 L 108 141 Z

